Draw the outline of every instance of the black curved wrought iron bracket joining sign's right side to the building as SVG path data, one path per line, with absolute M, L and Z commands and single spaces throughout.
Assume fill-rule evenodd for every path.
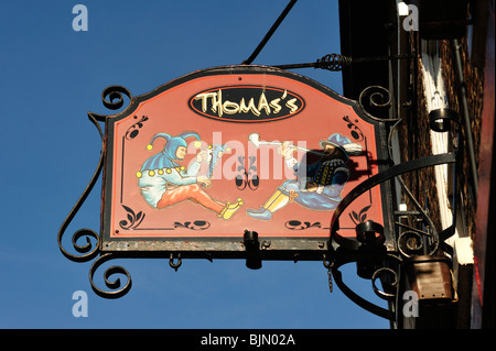
M 381 87 L 375 87 L 376 89 L 365 89 L 360 95 L 360 107 L 370 113 L 370 110 L 376 108 L 387 108 L 389 106 L 388 99 L 385 98 L 386 89 Z M 376 90 L 375 92 L 366 90 Z M 368 99 L 368 102 L 367 102 Z M 374 101 L 375 99 L 375 101 Z M 363 103 L 364 101 L 364 103 Z M 391 153 L 391 135 L 401 119 L 389 120 L 396 122 L 389 132 L 389 147 Z M 434 111 L 430 116 L 430 127 L 438 132 L 448 132 L 452 130 L 453 123 L 455 124 L 455 131 L 457 132 L 457 147 L 451 153 L 430 155 L 427 157 L 412 160 L 402 164 L 393 165 L 388 169 L 368 178 L 354 189 L 352 189 L 347 196 L 339 202 L 338 207 L 334 211 L 334 216 L 331 222 L 331 238 L 328 242 L 328 254 L 324 256 L 324 266 L 328 268 L 328 272 L 335 281 L 335 284 L 339 289 L 355 304 L 362 308 L 388 320 L 395 321 L 397 316 L 386 308 L 381 308 L 370 301 L 362 298 L 355 292 L 353 292 L 344 282 L 339 267 L 344 264 L 355 262 L 357 264 L 357 274 L 363 278 L 371 279 L 373 289 L 376 295 L 385 300 L 397 300 L 398 292 L 400 288 L 400 270 L 403 265 L 409 264 L 412 257 L 420 256 L 422 253 L 427 253 L 422 257 L 434 257 L 439 249 L 452 254 L 451 246 L 444 243 L 444 240 L 450 238 L 454 233 L 456 206 L 454 204 L 455 196 L 453 195 L 453 223 L 442 232 L 438 233 L 435 226 L 428 216 L 428 213 L 421 208 L 420 204 L 413 197 L 411 191 L 405 185 L 401 175 L 416 169 L 424 167 L 431 167 L 442 164 L 460 164 L 457 152 L 461 147 L 462 141 L 460 140 L 459 121 L 457 116 L 453 111 Z M 390 160 L 392 155 L 390 154 Z M 456 189 L 456 171 L 453 172 L 453 189 Z M 425 223 L 427 231 L 409 228 L 401 234 L 397 235 L 395 248 L 386 248 L 385 237 L 382 234 L 382 228 L 380 224 L 369 220 L 356 226 L 356 237 L 342 237 L 339 235 L 339 217 L 344 210 L 362 194 L 368 189 L 391 180 L 398 179 L 405 193 L 411 198 L 412 204 L 416 207 L 416 211 L 410 211 L 408 215 L 419 216 Z M 454 194 L 455 191 L 453 191 Z M 399 213 L 405 215 L 405 213 Z M 396 224 L 401 224 L 396 222 Z M 429 248 L 424 248 L 425 238 L 429 238 Z M 376 281 L 380 279 L 385 290 L 380 290 Z M 330 276 L 330 287 L 332 286 Z

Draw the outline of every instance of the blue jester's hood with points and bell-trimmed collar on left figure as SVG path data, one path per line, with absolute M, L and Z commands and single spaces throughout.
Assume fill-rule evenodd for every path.
M 154 154 L 143 163 L 141 172 L 138 172 L 137 174 L 138 177 L 140 177 L 141 174 L 145 171 L 149 171 L 149 174 L 152 173 L 150 175 L 154 175 L 154 169 L 159 169 L 159 173 L 171 173 L 172 168 L 184 171 L 184 166 L 181 166 L 174 162 L 174 160 L 176 158 L 175 154 L 177 152 L 177 147 L 187 147 L 186 138 L 195 138 L 196 140 L 200 140 L 200 135 L 194 132 L 183 132 L 181 134 L 177 134 L 176 136 L 171 136 L 166 133 L 158 133 L 151 139 L 150 144 L 147 146 L 148 150 L 153 149 L 152 144 L 158 138 L 165 139 L 165 146 L 161 152 Z

